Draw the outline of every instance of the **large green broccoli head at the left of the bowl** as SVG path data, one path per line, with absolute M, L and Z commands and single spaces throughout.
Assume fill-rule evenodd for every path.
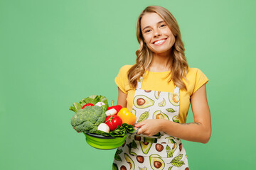
M 87 106 L 80 109 L 71 118 L 71 125 L 78 132 L 95 133 L 98 125 L 105 122 L 107 115 L 99 106 Z

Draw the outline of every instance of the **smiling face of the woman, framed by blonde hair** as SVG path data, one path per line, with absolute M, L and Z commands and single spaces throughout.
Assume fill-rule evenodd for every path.
M 157 13 L 145 13 L 142 16 L 141 29 L 149 50 L 155 54 L 170 54 L 175 37 L 163 18 Z

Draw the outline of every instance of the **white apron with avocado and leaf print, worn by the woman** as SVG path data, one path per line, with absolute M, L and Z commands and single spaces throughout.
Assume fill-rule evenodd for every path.
M 132 113 L 137 123 L 146 119 L 166 119 L 178 123 L 179 89 L 174 93 L 141 89 L 143 78 L 135 90 Z M 182 142 L 164 132 L 154 136 L 128 135 L 117 148 L 114 170 L 188 170 L 188 159 Z

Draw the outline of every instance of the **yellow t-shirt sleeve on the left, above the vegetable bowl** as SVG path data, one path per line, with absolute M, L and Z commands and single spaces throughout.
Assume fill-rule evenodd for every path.
M 129 70 L 129 65 L 124 65 L 119 69 L 119 73 L 117 74 L 117 77 L 114 79 L 114 82 L 117 84 L 119 89 L 124 92 L 124 94 L 127 94 L 127 84 L 128 84 L 128 77 L 127 72 Z

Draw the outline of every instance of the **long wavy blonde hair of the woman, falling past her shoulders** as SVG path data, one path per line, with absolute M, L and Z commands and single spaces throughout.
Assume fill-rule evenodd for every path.
M 136 51 L 136 64 L 134 64 L 128 71 L 128 81 L 130 86 L 134 89 L 137 87 L 137 81 L 139 77 L 142 77 L 146 70 L 149 69 L 154 54 L 151 50 L 149 50 L 149 47 L 147 47 L 142 36 L 142 28 L 140 23 L 145 13 L 157 13 L 161 18 L 164 19 L 167 26 L 169 26 L 171 33 L 174 34 L 176 40 L 173 47 L 171 47 L 171 54 L 169 59 L 171 61 L 171 72 L 168 75 L 168 77 L 170 77 L 169 82 L 173 80 L 174 84 L 180 89 L 186 89 L 186 85 L 182 79 L 186 79 L 186 74 L 188 72 L 188 62 L 186 61 L 184 53 L 185 49 L 181 40 L 181 32 L 174 16 L 170 13 L 170 11 L 161 6 L 147 6 L 139 15 L 137 20 L 137 40 L 140 47 Z

